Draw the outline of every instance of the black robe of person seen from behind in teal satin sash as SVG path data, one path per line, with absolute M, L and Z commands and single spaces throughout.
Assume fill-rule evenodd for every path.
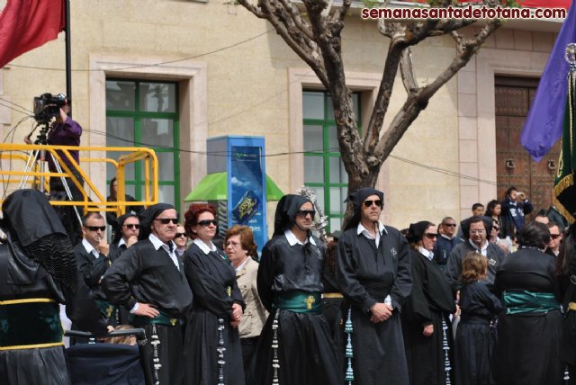
M 520 249 L 500 264 L 494 293 L 526 290 L 553 293 L 560 300 L 554 257 L 536 249 Z M 498 318 L 494 377 L 501 385 L 563 383 L 560 310 L 538 314 L 506 314 Z

